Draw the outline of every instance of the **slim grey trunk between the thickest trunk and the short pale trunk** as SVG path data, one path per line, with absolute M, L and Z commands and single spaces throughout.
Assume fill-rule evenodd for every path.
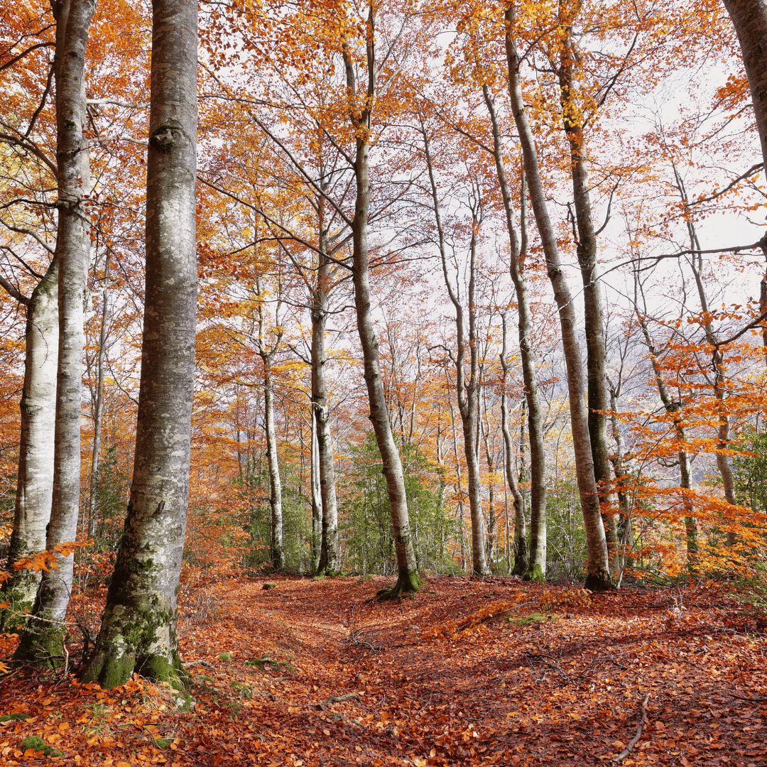
M 91 166 L 85 137 L 85 51 L 96 0 L 54 3 L 56 19 L 56 135 L 58 183 L 58 374 L 51 518 L 45 548 L 74 542 L 80 516 L 80 421 L 83 378 L 83 301 L 91 255 L 85 202 Z M 14 658 L 58 665 L 63 660 L 64 617 L 74 577 L 74 555 L 57 555 L 58 569 L 44 572 L 34 617 Z

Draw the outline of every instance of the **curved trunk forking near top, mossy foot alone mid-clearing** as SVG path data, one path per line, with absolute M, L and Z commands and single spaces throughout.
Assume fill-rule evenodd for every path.
M 376 443 L 383 464 L 387 482 L 391 521 L 394 535 L 394 549 L 397 552 L 397 583 L 379 594 L 381 598 L 396 598 L 403 591 L 418 591 L 421 579 L 418 575 L 413 538 L 410 532 L 410 518 L 407 513 L 407 494 L 402 461 L 397 443 L 394 442 L 389 423 L 384 384 L 380 373 L 378 340 L 370 311 L 370 255 L 367 250 L 367 219 L 370 215 L 370 121 L 376 95 L 375 60 L 375 16 L 372 2 L 366 25 L 367 87 L 364 106 L 357 104 L 357 84 L 354 63 L 344 41 L 344 67 L 346 70 L 349 117 L 356 134 L 354 158 L 354 179 L 357 193 L 354 201 L 352 222 L 354 306 L 357 309 L 357 331 L 364 360 L 364 379 L 367 386 L 367 400 L 370 404 L 370 423 L 376 435 Z

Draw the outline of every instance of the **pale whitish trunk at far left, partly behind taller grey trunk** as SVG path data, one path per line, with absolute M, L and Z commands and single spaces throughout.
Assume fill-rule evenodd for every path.
M 44 551 L 45 527 L 51 518 L 53 494 L 54 426 L 58 369 L 58 258 L 33 291 L 24 296 L 27 307 L 24 388 L 21 390 L 21 435 L 13 531 L 8 545 L 11 578 L 2 587 L 0 601 L 10 602 L 2 611 L 0 629 L 15 628 L 19 614 L 31 610 L 41 573 L 15 570 L 21 557 Z M 18 619 L 18 620 L 17 620 Z M 16 621 L 16 622 L 14 622 Z

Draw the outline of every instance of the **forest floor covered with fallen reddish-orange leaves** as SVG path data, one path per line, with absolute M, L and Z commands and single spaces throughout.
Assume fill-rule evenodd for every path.
M 27 718 L 0 724 L 0 762 L 580 767 L 615 764 L 644 718 L 621 764 L 767 765 L 765 621 L 732 587 L 429 578 L 412 599 L 367 602 L 386 584 L 188 588 L 192 711 L 139 677 L 102 691 L 15 670 L 0 715 Z M 7 658 L 15 640 L 0 641 Z M 61 755 L 22 750 L 28 736 Z

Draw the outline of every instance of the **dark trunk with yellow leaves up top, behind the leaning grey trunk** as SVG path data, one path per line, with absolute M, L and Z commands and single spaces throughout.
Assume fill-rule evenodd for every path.
M 586 369 L 588 381 L 588 433 L 591 457 L 594 461 L 594 481 L 597 483 L 602 504 L 602 522 L 607 539 L 610 571 L 618 569 L 617 527 L 612 502 L 612 472 L 607 458 L 607 351 L 604 343 L 604 315 L 602 293 L 597 265 L 597 235 L 591 214 L 591 196 L 588 193 L 588 166 L 583 135 L 582 114 L 576 100 L 577 66 L 573 51 L 572 27 L 563 25 L 564 37 L 558 67 L 562 105 L 562 122 L 570 145 L 570 174 L 573 183 L 575 225 L 578 235 L 575 251 L 581 267 L 583 282 L 584 330 L 586 336 Z M 552 62 L 552 66 L 556 66 Z

